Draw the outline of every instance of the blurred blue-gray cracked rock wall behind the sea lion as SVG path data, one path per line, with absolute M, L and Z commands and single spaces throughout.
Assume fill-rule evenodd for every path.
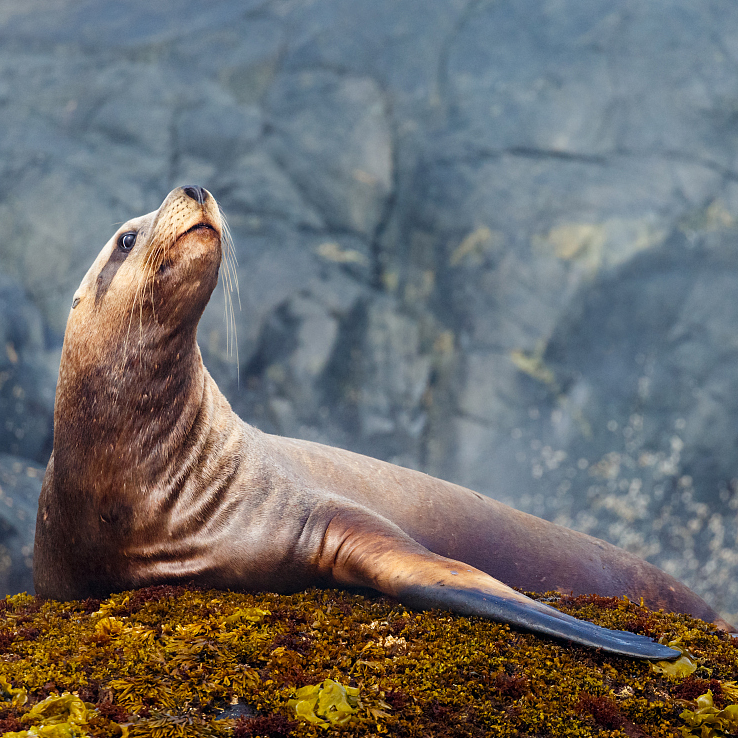
M 31 590 L 72 294 L 229 219 L 205 362 L 259 428 L 652 561 L 738 622 L 738 6 L 0 0 L 0 591 Z

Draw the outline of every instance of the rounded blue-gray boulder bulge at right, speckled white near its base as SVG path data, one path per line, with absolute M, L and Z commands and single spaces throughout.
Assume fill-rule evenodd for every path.
M 587 285 L 532 371 L 547 389 L 536 417 L 514 434 L 537 480 L 528 509 L 723 608 L 738 563 L 736 285 L 734 237 L 683 233 Z

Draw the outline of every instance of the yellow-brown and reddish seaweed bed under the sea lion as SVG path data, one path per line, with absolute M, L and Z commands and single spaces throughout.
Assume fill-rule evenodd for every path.
M 738 650 L 625 599 L 538 596 L 676 645 L 619 658 L 374 595 L 158 586 L 0 600 L 5 736 L 724 736 Z

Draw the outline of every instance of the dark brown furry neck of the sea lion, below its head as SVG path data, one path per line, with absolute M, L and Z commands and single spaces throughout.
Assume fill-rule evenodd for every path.
M 195 422 L 205 377 L 194 331 L 99 361 L 65 342 L 54 412 L 57 488 L 104 507 L 155 486 Z

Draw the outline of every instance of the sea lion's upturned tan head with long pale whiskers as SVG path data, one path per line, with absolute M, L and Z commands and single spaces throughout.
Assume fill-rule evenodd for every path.
M 65 341 L 76 333 L 139 346 L 194 328 L 218 280 L 223 219 L 202 187 L 178 187 L 161 207 L 124 223 L 74 294 Z

